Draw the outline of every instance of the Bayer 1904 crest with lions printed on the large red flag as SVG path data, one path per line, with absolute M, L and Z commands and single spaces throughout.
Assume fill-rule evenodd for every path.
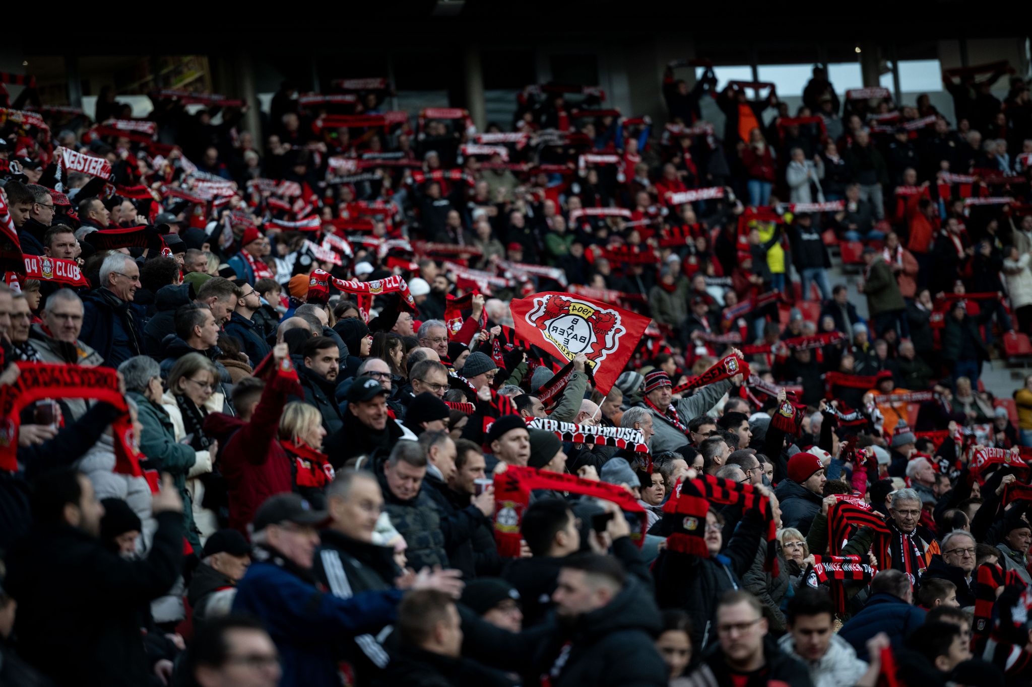
M 568 359 L 584 353 L 592 369 L 616 350 L 626 333 L 616 310 L 557 296 L 535 298 L 526 321 L 541 330 Z

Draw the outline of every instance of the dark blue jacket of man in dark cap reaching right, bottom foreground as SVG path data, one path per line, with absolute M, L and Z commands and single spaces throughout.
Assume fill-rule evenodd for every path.
M 259 618 L 280 651 L 280 687 L 340 687 L 335 649 L 346 638 L 378 632 L 397 618 L 401 592 L 364 591 L 350 598 L 316 587 L 312 572 L 268 548 L 236 585 L 234 613 Z

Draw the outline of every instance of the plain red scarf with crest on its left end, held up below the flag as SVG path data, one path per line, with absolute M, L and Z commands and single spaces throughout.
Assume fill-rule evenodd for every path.
M 627 513 L 640 514 L 641 530 L 633 533 L 638 547 L 645 541 L 648 518 L 645 508 L 630 491 L 617 484 L 585 480 L 575 475 L 543 472 L 536 468 L 509 466 L 494 476 L 494 540 L 498 554 L 517 558 L 520 552 L 520 523 L 535 489 L 552 489 L 611 501 Z

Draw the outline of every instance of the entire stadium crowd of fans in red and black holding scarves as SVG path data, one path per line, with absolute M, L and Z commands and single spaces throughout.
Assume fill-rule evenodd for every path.
M 1029 684 L 1032 102 L 943 80 L 0 74 L 0 686 Z

